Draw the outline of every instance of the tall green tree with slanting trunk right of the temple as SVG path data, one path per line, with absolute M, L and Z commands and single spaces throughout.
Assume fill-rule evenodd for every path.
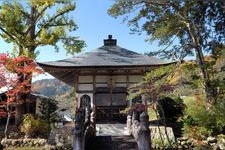
M 108 13 L 125 16 L 131 31 L 146 32 L 148 41 L 164 47 L 151 54 L 177 60 L 195 56 L 207 100 L 214 102 L 217 92 L 205 56 L 218 57 L 224 47 L 224 7 L 223 1 L 117 1 Z

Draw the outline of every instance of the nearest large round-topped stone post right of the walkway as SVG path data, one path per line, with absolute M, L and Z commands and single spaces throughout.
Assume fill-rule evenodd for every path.
M 137 144 L 139 150 L 151 149 L 151 138 L 149 129 L 149 117 L 146 112 L 140 115 L 140 124 L 137 132 Z

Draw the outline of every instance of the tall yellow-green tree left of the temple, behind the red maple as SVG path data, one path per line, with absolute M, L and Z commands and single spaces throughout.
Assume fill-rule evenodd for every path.
M 50 45 L 58 51 L 58 43 L 63 44 L 68 53 L 80 52 L 85 43 L 72 35 L 77 29 L 71 18 L 74 9 L 75 4 L 69 0 L 4 1 L 0 6 L 0 37 L 14 45 L 15 56 L 35 58 L 37 47 Z M 21 82 L 30 80 L 31 83 L 30 75 L 19 74 L 19 77 Z M 26 86 L 30 89 L 30 85 Z M 18 101 L 25 100 L 26 95 L 18 94 Z M 17 105 L 16 124 L 26 113 L 24 108 L 24 103 Z

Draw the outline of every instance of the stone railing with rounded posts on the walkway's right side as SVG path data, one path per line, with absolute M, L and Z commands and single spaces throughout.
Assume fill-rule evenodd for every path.
M 133 111 L 132 116 L 128 115 L 127 129 L 134 136 L 139 150 L 151 149 L 149 117 L 146 112 L 139 115 L 136 111 Z

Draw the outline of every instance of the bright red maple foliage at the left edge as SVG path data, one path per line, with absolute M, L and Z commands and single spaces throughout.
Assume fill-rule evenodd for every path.
M 30 92 L 32 76 L 40 73 L 42 70 L 31 58 L 25 56 L 13 58 L 8 54 L 0 54 L 0 89 L 4 89 L 7 97 L 6 101 L 0 99 L 1 107 L 22 103 L 19 95 Z M 6 117 L 4 113 L 1 114 L 0 118 Z

